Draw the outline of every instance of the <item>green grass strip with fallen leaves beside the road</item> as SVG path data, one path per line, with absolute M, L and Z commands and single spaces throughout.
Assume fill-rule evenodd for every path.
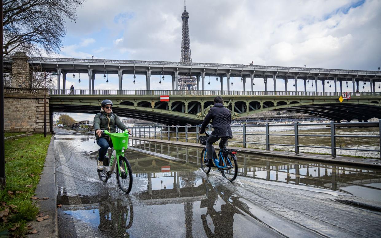
M 36 219 L 38 208 L 32 196 L 40 180 L 51 135 L 5 140 L 6 186 L 0 190 L 0 234 L 23 237 L 27 223 Z

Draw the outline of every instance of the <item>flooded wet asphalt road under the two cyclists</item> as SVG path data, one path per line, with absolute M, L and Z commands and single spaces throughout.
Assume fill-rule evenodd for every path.
M 160 150 L 178 158 L 170 160 L 128 150 L 125 156 L 133 170 L 133 187 L 125 195 L 115 174 L 106 184 L 98 179 L 98 145 L 93 138 L 59 128 L 54 131 L 57 202 L 62 205 L 58 208 L 60 237 L 381 236 L 380 212 L 333 200 L 349 195 L 335 185 L 340 181 L 336 176 L 332 179 L 336 168 L 328 171 L 323 166 L 322 177 L 328 177 L 319 184 L 308 170 L 301 176 L 304 172 L 299 166 L 298 171 L 292 166 L 287 171 L 277 163 L 285 171 L 256 169 L 252 173 L 247 167 L 259 168 L 256 163 L 261 158 L 239 157 L 245 169 L 230 183 L 218 171 L 204 174 L 197 152 Z M 136 143 L 131 145 L 141 147 Z M 157 151 L 160 146 L 147 144 L 145 149 Z M 378 172 L 367 176 L 379 180 Z M 318 184 L 306 185 L 309 179 Z M 372 196 L 381 197 L 379 191 L 372 190 Z

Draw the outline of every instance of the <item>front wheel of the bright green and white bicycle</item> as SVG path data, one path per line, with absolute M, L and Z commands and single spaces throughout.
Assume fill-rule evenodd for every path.
M 115 170 L 119 188 L 126 194 L 130 193 L 132 187 L 132 169 L 128 160 L 122 155 L 119 156 L 119 166 Z

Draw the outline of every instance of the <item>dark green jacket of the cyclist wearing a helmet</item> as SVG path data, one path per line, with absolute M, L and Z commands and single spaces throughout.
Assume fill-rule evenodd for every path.
M 127 129 L 127 126 L 122 123 L 122 121 L 119 119 L 119 117 L 116 114 L 113 114 L 112 112 L 110 114 L 107 114 L 104 112 L 103 109 L 101 109 L 100 113 L 96 113 L 94 117 L 94 131 L 97 129 L 101 130 L 107 130 L 109 133 L 116 133 L 117 128 L 124 131 Z M 109 136 L 106 134 L 103 134 L 101 137 L 106 138 L 109 140 Z M 95 139 L 99 139 L 99 136 L 95 134 Z

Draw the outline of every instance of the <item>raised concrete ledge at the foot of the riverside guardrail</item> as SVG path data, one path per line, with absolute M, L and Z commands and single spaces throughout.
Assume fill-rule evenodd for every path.
M 130 137 L 130 139 L 136 139 L 140 141 L 151 141 L 151 142 L 160 142 L 165 144 L 172 145 L 184 145 L 191 147 L 199 147 L 203 148 L 204 145 L 191 143 L 191 142 L 181 142 L 181 141 L 168 141 L 168 140 L 160 140 L 160 139 L 148 139 L 141 137 Z M 219 149 L 217 145 L 215 145 L 216 149 Z M 381 169 L 381 162 L 379 159 L 373 158 L 355 158 L 355 157 L 345 157 L 345 156 L 336 156 L 332 157 L 331 155 L 318 155 L 312 153 L 298 153 L 290 152 L 290 151 L 278 151 L 278 150 L 261 150 L 261 149 L 253 149 L 253 148 L 242 148 L 242 147 L 233 147 L 228 146 L 229 149 L 235 149 L 237 152 L 241 153 L 250 153 L 267 157 L 280 157 L 280 158 L 291 158 L 297 160 L 309 160 L 309 161 L 319 161 L 324 163 L 335 163 L 342 165 L 356 165 L 356 166 L 364 166 L 364 167 L 373 167 Z

